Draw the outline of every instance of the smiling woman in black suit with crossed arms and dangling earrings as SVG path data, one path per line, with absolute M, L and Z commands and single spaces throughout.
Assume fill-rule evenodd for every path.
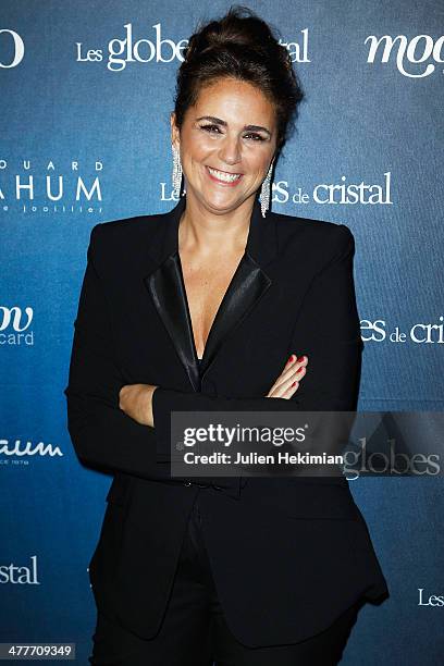
M 77 455 L 114 474 L 92 664 L 336 664 L 387 593 L 345 479 L 170 470 L 172 411 L 356 407 L 353 235 L 267 211 L 301 96 L 252 12 L 202 26 L 171 115 L 186 196 L 92 229 L 65 390 Z

